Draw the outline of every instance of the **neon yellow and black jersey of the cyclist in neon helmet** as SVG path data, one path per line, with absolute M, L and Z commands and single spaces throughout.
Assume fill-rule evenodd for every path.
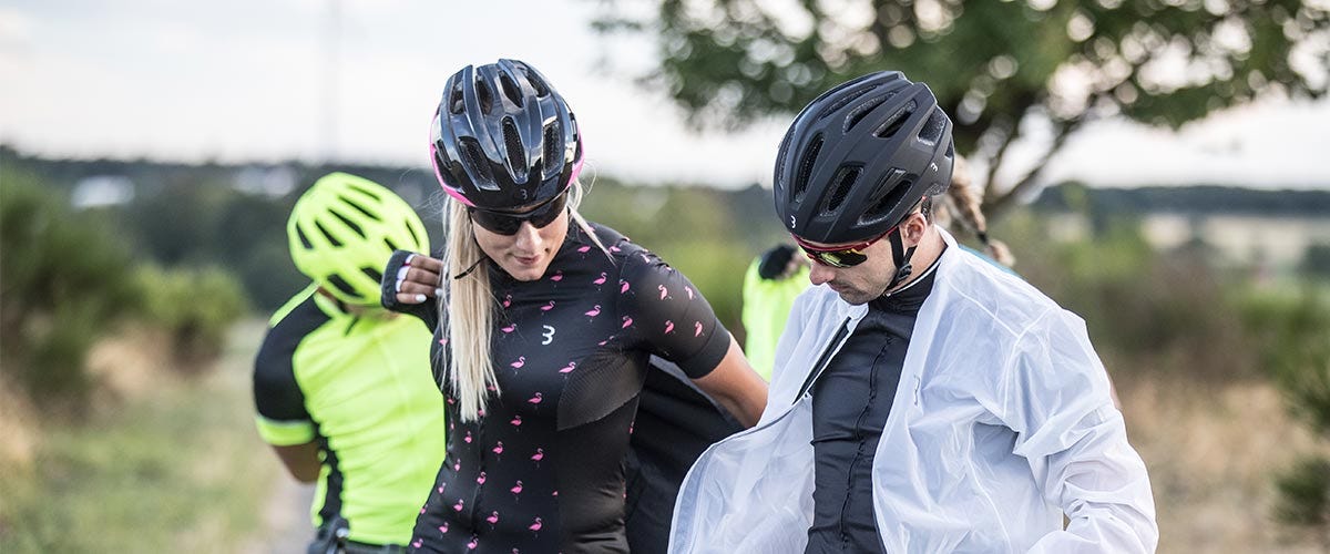
M 259 348 L 259 434 L 275 446 L 319 444 L 315 526 L 340 515 L 351 541 L 406 545 L 444 456 L 432 335 L 410 316 L 354 316 L 315 288 L 273 316 Z

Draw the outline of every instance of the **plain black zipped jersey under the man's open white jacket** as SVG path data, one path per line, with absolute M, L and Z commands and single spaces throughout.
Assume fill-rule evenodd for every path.
M 872 458 L 891 413 L 930 267 L 868 312 L 813 387 L 813 526 L 805 553 L 880 553 L 872 509 Z

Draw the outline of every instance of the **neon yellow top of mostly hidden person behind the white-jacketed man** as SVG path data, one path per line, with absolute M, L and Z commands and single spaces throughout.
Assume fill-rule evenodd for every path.
M 762 258 L 754 259 L 743 274 L 743 356 L 762 379 L 770 381 L 775 341 L 785 332 L 794 298 L 809 288 L 809 267 L 801 266 L 785 279 L 762 279 L 757 271 L 761 263 Z

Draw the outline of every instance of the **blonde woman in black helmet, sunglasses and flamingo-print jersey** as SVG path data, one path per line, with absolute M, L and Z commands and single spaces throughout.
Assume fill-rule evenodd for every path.
M 581 134 L 535 68 L 450 77 L 431 153 L 447 247 L 399 252 L 384 274 L 384 303 L 435 327 L 450 426 L 411 546 L 628 551 L 622 462 L 648 359 L 676 363 L 743 426 L 766 385 L 684 275 L 577 214 Z

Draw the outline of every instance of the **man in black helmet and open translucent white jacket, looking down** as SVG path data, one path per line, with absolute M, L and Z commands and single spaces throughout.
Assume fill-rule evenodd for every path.
M 932 223 L 952 158 L 932 92 L 896 72 L 795 118 L 775 207 L 815 287 L 762 420 L 684 480 L 670 551 L 1154 550 L 1149 477 L 1084 322 Z

